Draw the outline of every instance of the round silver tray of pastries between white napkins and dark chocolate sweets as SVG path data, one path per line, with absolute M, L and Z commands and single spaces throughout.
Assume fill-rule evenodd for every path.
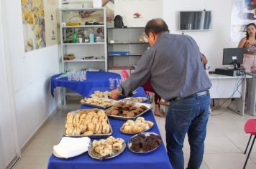
M 122 138 L 110 136 L 105 140 L 93 140 L 88 148 L 88 155 L 96 160 L 106 160 L 123 153 L 125 148 L 126 144 Z

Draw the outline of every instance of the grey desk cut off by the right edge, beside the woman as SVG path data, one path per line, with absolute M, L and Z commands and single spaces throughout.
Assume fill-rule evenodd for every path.
M 247 90 L 247 107 L 246 112 L 250 115 L 256 115 L 255 103 L 256 103 L 256 74 L 251 72 L 245 72 L 252 76 L 251 79 L 248 79 L 248 90 Z

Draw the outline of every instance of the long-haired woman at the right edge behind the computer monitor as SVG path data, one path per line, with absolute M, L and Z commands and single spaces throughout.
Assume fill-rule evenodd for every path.
M 247 24 L 246 37 L 242 38 L 238 44 L 239 48 L 244 48 L 244 60 L 242 68 L 251 71 L 256 66 L 256 25 Z

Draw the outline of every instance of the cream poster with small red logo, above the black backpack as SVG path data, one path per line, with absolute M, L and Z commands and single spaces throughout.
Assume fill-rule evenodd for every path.
M 128 27 L 144 27 L 150 19 L 163 18 L 163 0 L 116 0 L 114 13 Z

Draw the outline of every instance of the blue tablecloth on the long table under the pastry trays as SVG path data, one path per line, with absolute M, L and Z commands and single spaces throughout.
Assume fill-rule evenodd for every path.
M 109 88 L 97 88 L 94 87 L 88 93 L 91 95 L 95 90 L 106 91 Z M 134 97 L 145 97 L 145 92 L 142 87 L 139 87 L 137 93 L 134 94 Z M 91 107 L 81 106 L 82 109 L 87 109 Z M 152 111 L 146 112 L 143 117 L 145 120 L 150 120 L 154 122 L 154 127 L 148 132 L 156 132 L 160 135 L 160 132 L 155 122 L 155 117 Z M 111 127 L 113 129 L 113 137 L 122 137 L 127 143 L 129 138 L 132 135 L 124 135 L 120 132 L 120 127 L 124 124 L 124 120 L 115 120 L 109 118 Z M 51 155 L 48 161 L 48 169 L 71 169 L 71 168 L 90 168 L 90 169 L 171 169 L 170 161 L 166 153 L 165 147 L 162 143 L 160 148 L 154 150 L 151 153 L 146 154 L 137 154 L 132 153 L 128 148 L 124 150 L 121 155 L 118 155 L 116 158 L 111 158 L 109 160 L 95 160 L 91 158 L 88 153 L 83 153 L 75 158 L 70 159 L 60 159 L 56 158 L 54 155 Z

